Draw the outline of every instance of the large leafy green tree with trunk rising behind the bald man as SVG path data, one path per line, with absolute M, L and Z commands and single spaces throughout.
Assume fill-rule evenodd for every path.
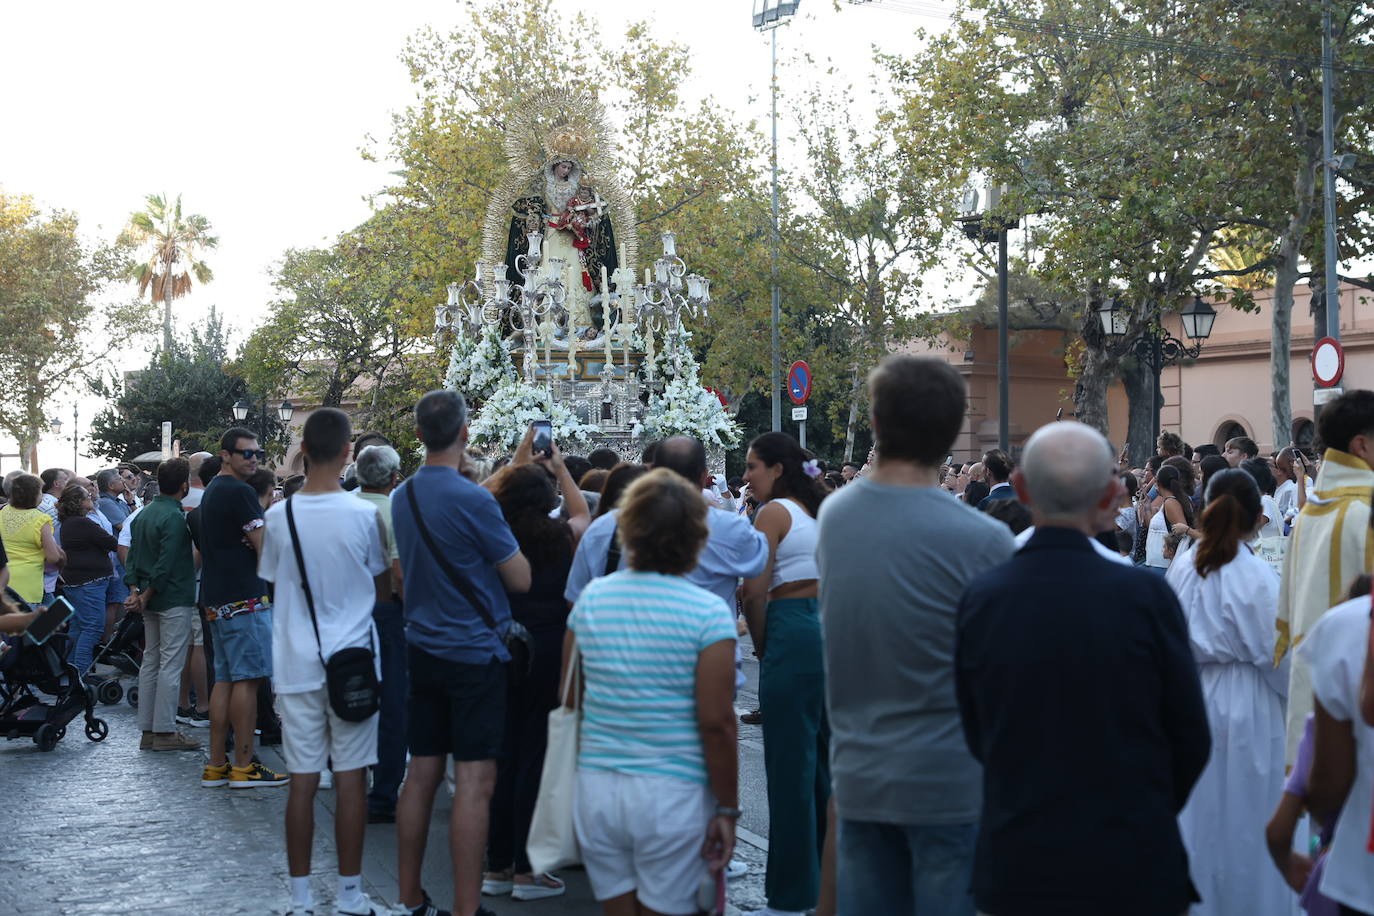
M 1046 257 L 1035 273 L 1073 294 L 1085 341 L 1074 396 L 1084 422 L 1105 428 L 1127 341 L 1193 291 L 1252 302 L 1219 283 L 1242 273 L 1212 255 L 1237 232 L 1282 224 L 1274 181 L 1290 181 L 1294 150 L 1270 65 L 1224 49 L 1272 48 L 1309 22 L 1296 4 L 1276 5 L 1270 18 L 1238 16 L 1224 0 L 966 0 L 927 54 L 888 59 L 905 85 L 903 141 L 959 159 L 970 180 L 1004 183 L 993 218 L 1036 214 Z M 1055 27 L 1009 27 L 1028 19 Z M 1179 49 L 1198 36 L 1221 51 Z M 1087 308 L 1098 295 L 1132 308 L 1127 341 L 1102 335 Z

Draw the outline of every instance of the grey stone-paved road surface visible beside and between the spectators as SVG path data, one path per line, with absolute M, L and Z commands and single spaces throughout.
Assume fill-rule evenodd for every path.
M 738 706 L 756 706 L 757 665 Z M 100 707 L 110 724 L 103 743 L 88 742 L 73 722 L 51 753 L 30 740 L 0 742 L 0 915 L 4 916 L 265 916 L 287 902 L 282 836 L 284 788 L 201 788 L 203 754 L 137 750 L 135 711 Z M 205 742 L 209 729 L 194 729 Z M 278 748 L 264 764 L 284 770 Z M 768 813 L 763 781 L 763 735 L 741 726 L 745 817 L 738 858 L 750 873 L 731 883 L 743 911 L 764 905 L 763 871 Z M 334 794 L 316 802 L 312 860 L 316 912 L 334 900 Z M 448 867 L 448 794 L 440 790 L 426 856 L 425 886 L 441 904 L 452 900 Z M 753 845 L 750 845 L 753 843 Z M 370 825 L 363 875 L 375 898 L 396 900 L 396 828 Z M 587 876 L 562 873 L 567 894 L 547 901 L 486 898 L 500 916 L 592 916 Z

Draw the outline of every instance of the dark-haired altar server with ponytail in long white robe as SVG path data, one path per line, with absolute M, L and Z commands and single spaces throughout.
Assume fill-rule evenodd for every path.
M 1239 470 L 1208 482 L 1202 537 L 1169 567 L 1202 680 L 1212 758 L 1179 814 L 1193 916 L 1290 916 L 1296 897 L 1270 864 L 1264 825 L 1283 791 L 1287 665 L 1274 667 L 1279 581 L 1248 541 L 1260 492 Z

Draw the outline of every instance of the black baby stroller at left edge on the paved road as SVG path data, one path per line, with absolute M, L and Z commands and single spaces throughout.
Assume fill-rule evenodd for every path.
M 19 599 L 10 589 L 5 596 Z M 3 639 L 10 650 L 0 655 L 0 736 L 32 737 L 40 751 L 51 751 L 67 733 L 67 724 L 84 713 L 87 737 L 103 742 L 110 726 L 96 718 L 91 691 L 81 684 L 76 665 L 66 661 L 67 637 L 55 634 L 43 645 L 22 636 Z M 44 703 L 38 692 L 52 702 Z

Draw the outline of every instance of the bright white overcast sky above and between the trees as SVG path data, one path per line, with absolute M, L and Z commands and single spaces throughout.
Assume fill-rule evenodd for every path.
M 653 21 L 662 40 L 692 51 L 690 96 L 713 95 L 767 122 L 768 38 L 752 29 L 750 0 L 555 0 L 561 10 L 578 5 L 611 34 L 629 18 Z M 76 210 L 82 229 L 103 238 L 146 194 L 181 194 L 214 225 L 220 247 L 206 258 L 216 280 L 180 306 L 179 324 L 213 304 L 242 339 L 272 297 L 268 269 L 282 251 L 324 244 L 363 221 L 365 195 L 386 184 L 393 166 L 364 162 L 359 147 L 368 135 L 385 140 L 389 113 L 414 98 L 397 59 L 407 36 L 463 21 L 458 3 L 422 0 L 5 3 L 0 185 Z M 915 29 L 945 25 L 805 0 L 780 47 L 785 56 L 829 56 L 861 84 L 875 43 L 912 49 Z M 144 361 L 140 350 L 122 368 Z M 44 466 L 62 455 L 70 461 L 71 405 L 70 394 L 55 405 L 63 430 L 40 446 Z M 99 407 L 81 401 L 82 437 Z M 14 442 L 0 439 L 0 452 Z

